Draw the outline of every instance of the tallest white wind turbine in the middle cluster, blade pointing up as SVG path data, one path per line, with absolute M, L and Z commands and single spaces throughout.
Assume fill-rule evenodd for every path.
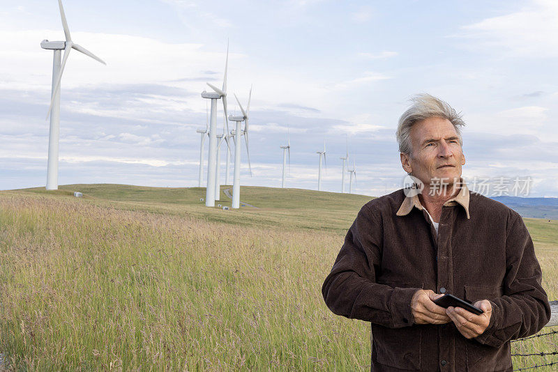
M 211 120 L 209 121 L 209 158 L 207 160 L 207 186 L 205 194 L 205 206 L 215 206 L 215 185 L 217 165 L 217 100 L 223 98 L 223 110 L 225 111 L 225 122 L 229 132 L 229 121 L 227 119 L 227 68 L 229 64 L 229 43 L 227 42 L 227 59 L 225 60 L 225 75 L 223 77 L 223 88 L 219 89 L 213 84 L 206 83 L 213 92 L 202 92 L 202 98 L 211 100 Z

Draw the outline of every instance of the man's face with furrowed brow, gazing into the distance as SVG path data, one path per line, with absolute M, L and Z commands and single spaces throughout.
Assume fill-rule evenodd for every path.
M 465 155 L 451 121 L 437 117 L 419 121 L 413 125 L 410 137 L 412 157 L 401 154 L 407 173 L 427 186 L 433 178 L 444 180 L 450 187 L 455 179 L 459 180 Z

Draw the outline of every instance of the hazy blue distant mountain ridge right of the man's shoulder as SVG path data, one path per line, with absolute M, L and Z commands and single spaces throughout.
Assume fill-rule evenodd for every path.
M 494 196 L 491 199 L 506 204 L 521 217 L 558 219 L 558 198 L 522 198 L 520 196 Z

